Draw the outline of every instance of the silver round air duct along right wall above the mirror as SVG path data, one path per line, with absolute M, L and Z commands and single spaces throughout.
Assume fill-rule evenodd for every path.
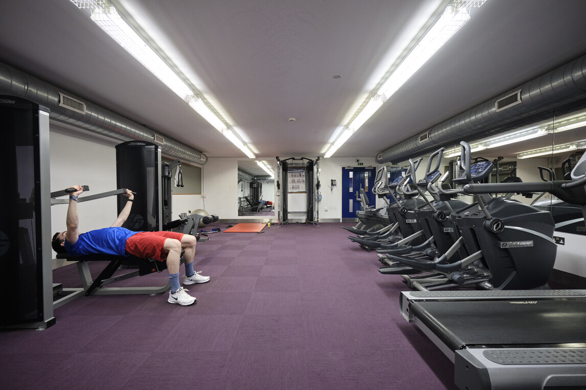
M 473 141 L 551 118 L 546 111 L 586 107 L 586 56 L 448 119 L 376 156 L 379 164 L 423 156 L 438 147 Z

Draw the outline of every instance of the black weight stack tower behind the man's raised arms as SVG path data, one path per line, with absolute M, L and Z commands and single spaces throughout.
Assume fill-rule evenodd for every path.
M 127 141 L 116 146 L 118 188 L 136 192 L 130 216 L 122 225 L 135 232 L 162 230 L 161 147 L 145 141 Z M 118 213 L 127 202 L 118 196 Z

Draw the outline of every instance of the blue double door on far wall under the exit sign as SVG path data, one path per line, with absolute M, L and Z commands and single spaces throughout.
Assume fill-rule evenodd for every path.
M 372 187 L 375 174 L 374 168 L 342 168 L 342 218 L 356 218 L 356 211 L 361 206 L 356 200 L 356 191 L 360 194 L 361 188 L 366 192 L 369 204 L 374 206 L 376 198 Z

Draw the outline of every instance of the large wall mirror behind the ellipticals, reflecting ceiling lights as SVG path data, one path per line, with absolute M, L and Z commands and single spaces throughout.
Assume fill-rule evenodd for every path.
M 542 174 L 546 180 L 570 179 L 572 168 L 586 150 L 586 110 L 555 109 L 539 117 L 540 120 L 509 132 L 469 141 L 473 158 L 486 158 L 495 165 L 488 182 L 537 182 L 542 180 Z M 448 148 L 444 153 L 444 170 L 451 165 L 448 161 L 458 158 L 459 150 L 458 156 L 453 156 L 453 152 Z M 584 221 L 575 221 L 581 218 L 577 205 L 561 202 L 547 193 L 507 195 L 527 204 L 556 207 L 556 213 L 567 214 L 554 215 L 556 231 L 586 234 Z

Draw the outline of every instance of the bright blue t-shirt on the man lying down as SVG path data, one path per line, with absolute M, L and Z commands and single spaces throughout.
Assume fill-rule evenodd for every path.
M 81 233 L 75 244 L 65 240 L 65 250 L 70 256 L 82 256 L 84 254 L 126 254 L 126 240 L 137 234 L 124 227 L 105 227 L 104 229 L 91 230 Z

